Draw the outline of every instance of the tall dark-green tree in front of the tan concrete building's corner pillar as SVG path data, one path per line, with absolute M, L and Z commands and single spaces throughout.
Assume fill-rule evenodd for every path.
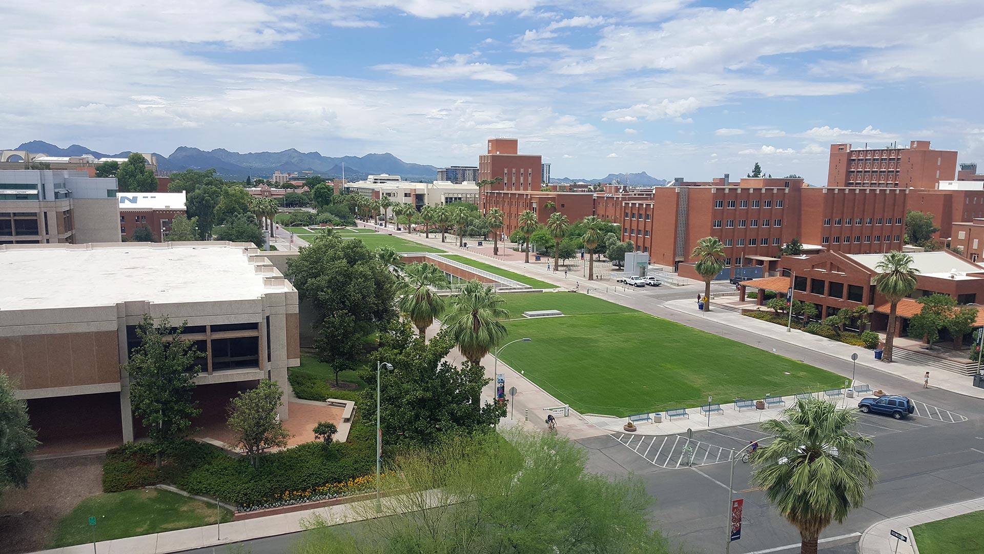
M 122 367 L 130 380 L 133 414 L 157 447 L 157 467 L 160 450 L 187 437 L 192 420 L 202 413 L 192 394 L 201 372 L 195 359 L 204 354 L 193 341 L 181 338 L 185 324 L 172 327 L 167 317 L 154 324 L 145 313 L 137 325 L 140 344 Z

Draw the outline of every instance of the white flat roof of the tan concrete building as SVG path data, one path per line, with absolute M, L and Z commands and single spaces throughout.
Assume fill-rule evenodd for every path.
M 241 244 L 198 244 L 0 247 L 0 313 L 114 306 L 128 301 L 254 300 L 266 293 L 293 290 L 288 284 L 265 286 L 264 275 L 256 272 Z

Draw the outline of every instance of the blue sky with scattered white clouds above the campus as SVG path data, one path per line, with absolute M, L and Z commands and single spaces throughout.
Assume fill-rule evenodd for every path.
M 554 176 L 751 171 L 824 184 L 830 144 L 984 166 L 981 0 L 14 2 L 0 147 L 178 146 Z

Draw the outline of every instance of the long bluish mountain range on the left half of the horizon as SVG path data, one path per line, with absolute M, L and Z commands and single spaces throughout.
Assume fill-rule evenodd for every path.
M 73 144 L 59 148 L 44 141 L 31 141 L 12 150 L 27 150 L 49 156 L 82 156 L 92 154 L 96 158 L 126 158 L 130 152 L 103 154 L 85 146 Z M 250 152 L 241 154 L 222 148 L 205 151 L 190 146 L 180 146 L 170 156 L 157 154 L 157 169 L 163 172 L 181 172 L 188 169 L 208 170 L 230 178 L 246 175 L 269 176 L 274 172 L 312 172 L 323 176 L 341 176 L 344 164 L 345 177 L 349 180 L 364 178 L 369 174 L 390 173 L 406 180 L 431 181 L 437 178 L 437 168 L 421 164 L 408 164 L 393 154 L 366 154 L 332 158 L 318 152 L 300 152 L 293 148 L 282 152 Z

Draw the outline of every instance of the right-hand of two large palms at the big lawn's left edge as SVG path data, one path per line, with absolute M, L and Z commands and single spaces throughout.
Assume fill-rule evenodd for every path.
M 479 364 L 506 338 L 506 326 L 500 321 L 509 316 L 502 306 L 505 302 L 491 285 L 478 281 L 468 281 L 458 295 L 451 297 L 444 324 L 451 329 L 468 362 Z

